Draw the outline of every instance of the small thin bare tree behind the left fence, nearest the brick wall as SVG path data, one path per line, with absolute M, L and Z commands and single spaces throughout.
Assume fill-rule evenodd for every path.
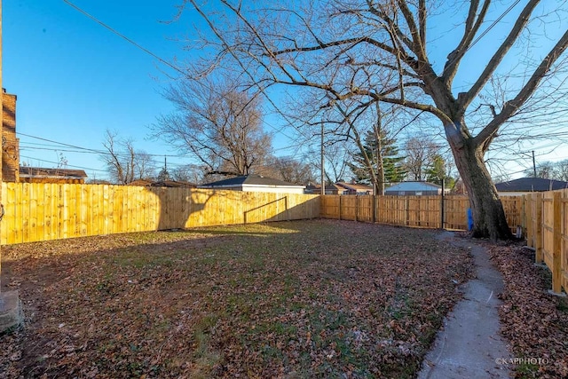
M 106 130 L 103 146 L 106 152 L 100 158 L 106 163 L 110 178 L 115 183 L 126 185 L 154 176 L 152 157 L 144 151 L 135 150 L 132 139 L 120 139 L 115 131 Z

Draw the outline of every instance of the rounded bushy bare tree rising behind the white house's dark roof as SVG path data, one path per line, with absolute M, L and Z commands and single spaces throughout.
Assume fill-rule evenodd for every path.
M 177 108 L 154 125 L 156 135 L 189 152 L 208 175 L 248 175 L 271 155 L 260 100 L 234 83 L 185 79 L 165 94 Z

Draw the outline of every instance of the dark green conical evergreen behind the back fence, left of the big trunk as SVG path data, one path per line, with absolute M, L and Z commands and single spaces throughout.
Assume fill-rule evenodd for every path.
M 395 145 L 396 140 L 389 138 L 386 133 L 382 132 L 377 141 L 374 130 L 367 130 L 364 141 L 363 148 L 373 167 L 367 167 L 363 153 L 353 154 L 353 162 L 348 163 L 348 166 L 353 173 L 355 182 L 366 185 L 372 184 L 371 170 L 374 170 L 375 173 L 377 172 L 379 156 L 383 157 L 384 181 L 386 183 L 402 181 L 406 175 L 402 165 L 405 157 L 398 155 L 398 146 Z M 380 149 L 377 148 L 378 146 L 380 146 Z

